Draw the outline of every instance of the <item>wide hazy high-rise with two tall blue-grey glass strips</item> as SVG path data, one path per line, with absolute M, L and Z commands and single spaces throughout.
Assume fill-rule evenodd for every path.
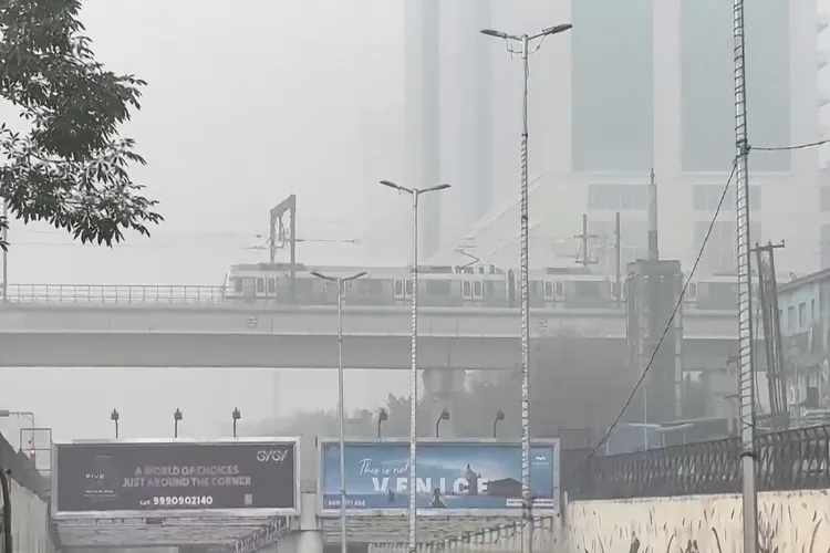
M 531 194 L 530 218 L 540 244 L 531 249 L 531 265 L 551 262 L 554 242 L 573 240 L 582 213 L 589 232 L 600 237 L 591 240 L 591 250 L 601 268 L 613 265 L 618 211 L 623 262 L 644 254 L 646 189 L 654 168 L 661 254 L 681 259 L 687 270 L 735 157 L 732 2 L 559 0 L 544 10 L 537 14 L 544 22 L 538 27 L 568 21 L 573 30 L 548 39 L 531 58 L 530 175 L 538 176 L 539 186 Z M 819 105 L 827 98 L 818 85 L 826 56 L 817 48 L 815 2 L 746 2 L 745 11 L 750 144 L 817 140 Z M 496 82 L 518 80 L 508 71 L 498 65 Z M 518 111 L 512 117 L 518 123 Z M 755 149 L 749 171 L 751 240 L 786 240 L 778 255 L 785 269 L 818 267 L 819 251 L 830 251 L 830 225 L 821 230 L 822 222 L 830 223 L 830 207 L 826 217 L 818 201 L 818 148 Z M 490 234 L 511 233 L 513 243 L 499 249 L 518 251 L 512 201 L 498 221 L 502 228 Z M 732 189 L 702 272 L 735 270 L 734 204 Z M 491 244 L 479 246 L 486 252 Z

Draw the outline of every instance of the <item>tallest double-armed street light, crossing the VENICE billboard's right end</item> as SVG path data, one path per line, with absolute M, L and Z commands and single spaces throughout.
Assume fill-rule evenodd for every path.
M 528 79 L 530 77 L 530 43 L 550 34 L 569 31 L 573 25 L 564 23 L 544 29 L 533 35 L 507 34 L 492 29 L 481 30 L 483 34 L 502 39 L 521 45 L 522 75 L 521 98 L 521 217 L 520 217 L 520 294 L 521 294 L 521 505 L 525 528 L 522 529 L 522 553 L 533 547 L 533 499 L 530 493 L 530 305 L 528 300 Z M 541 45 L 541 44 L 540 44 Z

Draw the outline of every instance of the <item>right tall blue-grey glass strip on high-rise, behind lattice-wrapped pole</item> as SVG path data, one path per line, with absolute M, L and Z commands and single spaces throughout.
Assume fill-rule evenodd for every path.
M 790 143 L 790 0 L 745 7 L 747 111 L 756 114 L 756 146 Z M 686 171 L 728 171 L 735 152 L 733 6 L 722 0 L 681 2 L 682 164 Z M 789 170 L 789 152 L 754 156 L 753 170 Z

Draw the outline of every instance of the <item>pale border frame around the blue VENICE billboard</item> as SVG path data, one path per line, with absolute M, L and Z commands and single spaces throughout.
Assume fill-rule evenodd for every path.
M 356 438 L 346 440 L 345 447 L 349 446 L 407 446 L 409 444 L 408 438 Z M 418 446 L 512 446 L 521 451 L 521 442 L 519 440 L 504 440 L 498 438 L 458 438 L 458 439 L 443 439 L 435 437 L 422 437 L 418 438 Z M 338 519 L 340 518 L 339 509 L 325 509 L 324 508 L 324 490 L 323 490 L 323 451 L 325 446 L 339 446 L 338 438 L 319 438 L 318 439 L 318 486 L 317 486 L 317 501 L 318 501 L 318 517 L 321 519 Z M 553 449 L 553 507 L 533 507 L 533 518 L 549 517 L 552 513 L 561 510 L 561 440 L 559 438 L 539 438 L 533 439 L 530 442 L 530 447 L 550 447 Z M 349 489 L 346 482 L 346 490 Z M 518 498 L 520 499 L 520 498 Z M 505 509 L 424 509 L 418 508 L 418 518 L 463 518 L 463 517 L 501 517 L 501 518 L 520 518 L 522 512 L 521 505 L 505 508 Z M 401 518 L 407 517 L 406 508 L 395 509 L 346 509 L 349 517 L 384 517 L 384 518 Z M 537 514 L 538 513 L 538 514 Z

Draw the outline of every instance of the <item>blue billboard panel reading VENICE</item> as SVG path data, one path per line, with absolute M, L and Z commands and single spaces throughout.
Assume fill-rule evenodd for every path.
M 400 514 L 409 507 L 408 441 L 350 441 L 344 448 L 346 509 Z M 340 446 L 321 442 L 322 514 L 340 510 Z M 559 508 L 559 442 L 530 451 L 535 509 Z M 423 514 L 515 514 L 521 509 L 521 446 L 497 441 L 418 441 L 416 504 Z

